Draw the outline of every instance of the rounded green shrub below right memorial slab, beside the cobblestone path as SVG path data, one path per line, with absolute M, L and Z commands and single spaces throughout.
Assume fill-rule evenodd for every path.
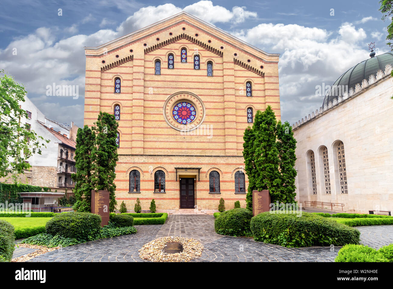
M 252 213 L 245 208 L 236 208 L 221 213 L 214 222 L 217 234 L 228 236 L 250 236 Z

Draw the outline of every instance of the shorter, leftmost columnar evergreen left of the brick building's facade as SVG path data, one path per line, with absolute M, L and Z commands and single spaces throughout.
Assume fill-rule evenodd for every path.
M 76 173 L 71 177 L 75 182 L 73 190 L 76 202 L 73 209 L 79 212 L 90 212 L 92 202 L 92 149 L 94 147 L 94 132 L 87 126 L 79 128 L 76 136 L 75 168 Z

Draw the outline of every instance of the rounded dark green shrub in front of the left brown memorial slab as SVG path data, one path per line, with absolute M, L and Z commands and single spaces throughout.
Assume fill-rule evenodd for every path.
M 45 228 L 53 236 L 90 241 L 101 230 L 101 216 L 86 212 L 57 214 L 46 223 Z

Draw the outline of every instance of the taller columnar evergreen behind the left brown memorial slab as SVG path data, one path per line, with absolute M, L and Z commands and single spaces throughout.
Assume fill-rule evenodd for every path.
M 109 211 L 116 208 L 115 168 L 118 161 L 116 145 L 118 122 L 113 114 L 99 112 L 92 131 L 95 133 L 95 142 L 92 149 L 92 185 L 94 190 L 109 191 Z

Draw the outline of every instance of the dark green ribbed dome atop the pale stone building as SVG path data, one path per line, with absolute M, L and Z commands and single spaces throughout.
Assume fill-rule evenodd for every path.
M 349 91 L 350 88 L 355 88 L 356 83 L 362 84 L 363 79 L 369 79 L 371 74 L 376 75 L 378 70 L 385 70 L 385 65 L 391 64 L 393 66 L 393 53 L 384 53 L 371 57 L 361 63 L 356 64 L 352 68 L 349 68 L 344 74 L 342 74 L 332 87 L 345 87 L 345 90 L 329 89 L 323 99 L 323 105 L 328 105 L 333 99 L 337 99 L 338 96 L 343 96 L 344 91 Z

